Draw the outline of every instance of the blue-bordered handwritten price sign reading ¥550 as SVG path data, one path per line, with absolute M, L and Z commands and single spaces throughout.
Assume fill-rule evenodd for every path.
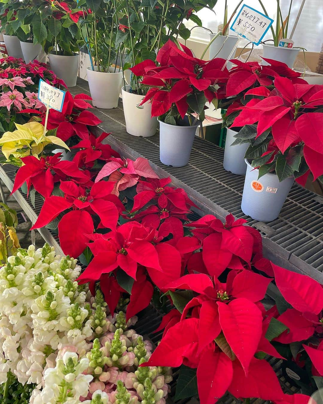
M 242 38 L 259 45 L 273 22 L 273 19 L 260 11 L 243 4 L 230 29 Z

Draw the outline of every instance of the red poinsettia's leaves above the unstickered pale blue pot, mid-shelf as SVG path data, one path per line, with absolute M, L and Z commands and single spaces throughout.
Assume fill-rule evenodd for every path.
M 186 46 L 179 46 L 168 40 L 159 49 L 158 65 L 147 59 L 130 70 L 143 77 L 141 85 L 150 87 L 141 105 L 151 101 L 151 116 L 172 125 L 181 124 L 186 117 L 192 125 L 197 119 L 204 120 L 205 104 L 212 103 L 215 84 L 227 80 L 228 70 L 224 59 L 203 61 Z

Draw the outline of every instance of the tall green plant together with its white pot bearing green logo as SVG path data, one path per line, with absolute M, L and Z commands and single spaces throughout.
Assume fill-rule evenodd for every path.
M 164 2 L 163 4 L 126 1 L 122 4 L 124 6 L 121 10 L 121 18 L 119 18 L 117 35 L 125 48 L 124 70 L 132 65 L 133 69 L 130 70 L 135 74 L 135 65 L 146 59 L 156 61 L 159 48 L 169 38 L 173 38 L 176 42 L 178 36 L 187 40 L 191 31 L 185 27 L 183 20 L 192 19 L 201 25 L 195 11 L 205 6 L 212 8 L 216 4 L 216 0 L 207 2 L 194 0 L 187 5 L 180 1 Z M 145 39 L 143 40 L 143 38 Z M 122 88 L 126 130 L 130 135 L 148 137 L 155 134 L 157 118 L 151 117 L 151 104 L 139 105 L 148 89 L 142 84 L 138 72 L 132 75 L 128 85 Z

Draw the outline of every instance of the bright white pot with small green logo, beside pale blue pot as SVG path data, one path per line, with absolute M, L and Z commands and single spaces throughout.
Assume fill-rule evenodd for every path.
M 151 103 L 143 101 L 144 96 L 129 93 L 130 86 L 126 90 L 122 87 L 122 104 L 124 106 L 124 118 L 126 130 L 130 135 L 150 137 L 155 135 L 157 128 L 157 117 L 151 118 Z

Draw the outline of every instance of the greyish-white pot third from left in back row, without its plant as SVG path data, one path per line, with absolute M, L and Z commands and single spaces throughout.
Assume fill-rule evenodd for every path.
M 64 80 L 67 87 L 75 87 L 78 78 L 80 55 L 73 53 L 72 56 L 57 55 L 49 53 L 49 64 L 52 71 L 58 78 Z

